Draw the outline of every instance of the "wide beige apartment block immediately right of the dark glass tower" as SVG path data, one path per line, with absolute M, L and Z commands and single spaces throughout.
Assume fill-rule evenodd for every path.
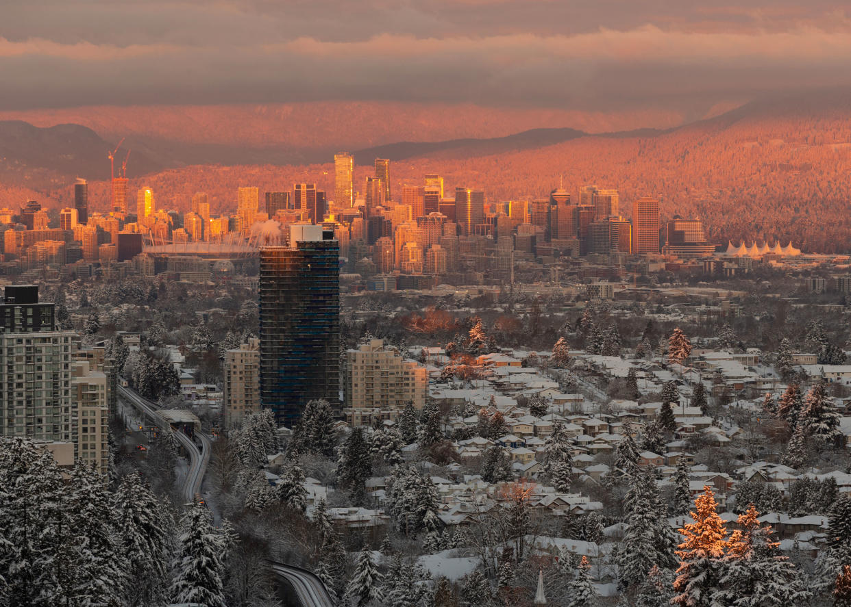
M 373 419 L 395 418 L 408 402 L 422 409 L 426 403 L 425 366 L 408 360 L 380 339 L 346 350 L 346 418 L 353 426 Z

